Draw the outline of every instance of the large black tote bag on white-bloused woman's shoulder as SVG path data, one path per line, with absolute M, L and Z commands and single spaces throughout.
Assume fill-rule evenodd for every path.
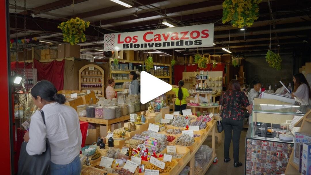
M 44 112 L 41 111 L 43 123 L 45 125 Z M 46 140 L 46 150 L 40 155 L 30 156 L 26 151 L 27 142 L 21 145 L 21 154 L 18 160 L 18 175 L 49 175 L 51 163 L 51 148 L 48 138 Z

